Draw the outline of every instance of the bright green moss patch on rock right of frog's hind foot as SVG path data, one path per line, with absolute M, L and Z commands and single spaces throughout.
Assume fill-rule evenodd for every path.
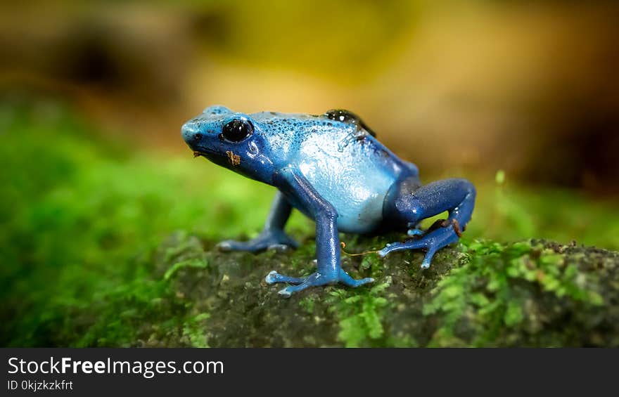
M 556 249 L 532 241 L 465 245 L 466 266 L 442 279 L 423 308 L 424 315 L 438 315 L 430 345 L 526 344 L 528 330 L 543 326 L 538 322 L 545 313 L 535 307 L 541 301 L 575 306 L 582 313 L 603 306 L 598 276 L 583 273 L 572 257 Z M 543 310 L 549 309 L 556 308 Z

